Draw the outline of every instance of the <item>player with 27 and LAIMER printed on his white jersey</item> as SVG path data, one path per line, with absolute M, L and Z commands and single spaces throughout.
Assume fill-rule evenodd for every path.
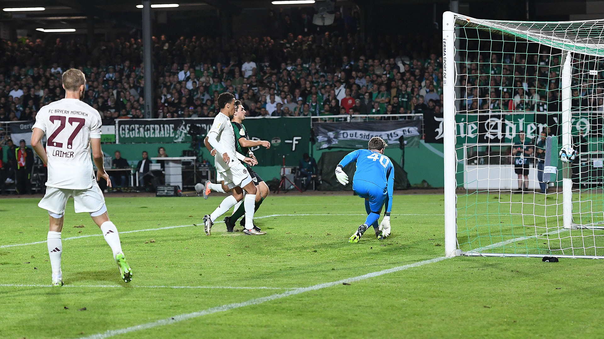
M 73 68 L 65 71 L 65 99 L 42 107 L 32 128 L 31 145 L 48 166 L 47 190 L 38 206 L 46 209 L 50 215 L 47 244 L 53 286 L 63 285 L 61 230 L 69 197 L 74 197 L 76 213 L 88 212 L 92 221 L 101 228 L 124 282 L 132 280 L 132 270 L 121 250 L 117 228 L 109 221 L 103 192 L 94 179 L 91 146 L 92 158 L 98 168 L 97 180 L 107 180 L 107 185 L 111 187 L 111 180 L 103 168 L 101 116 L 97 110 L 80 101 L 85 84 L 82 71 Z M 46 150 L 40 143 L 44 134 L 48 137 Z

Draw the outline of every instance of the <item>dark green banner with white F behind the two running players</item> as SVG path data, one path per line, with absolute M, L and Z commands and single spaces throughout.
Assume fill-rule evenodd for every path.
M 271 142 L 271 148 L 253 147 L 259 166 L 298 166 L 304 153 L 309 153 L 310 116 L 300 118 L 245 119 L 245 130 L 253 140 Z

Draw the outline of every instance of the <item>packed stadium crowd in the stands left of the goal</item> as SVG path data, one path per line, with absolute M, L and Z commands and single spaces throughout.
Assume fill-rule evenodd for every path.
M 422 113 L 439 111 L 442 102 L 442 57 L 402 36 L 376 43 L 330 32 L 240 37 L 225 46 L 207 37 L 153 42 L 155 118 L 214 116 L 224 91 L 251 116 Z M 60 75 L 72 67 L 85 72 L 83 100 L 104 124 L 145 115 L 140 40 L 92 50 L 73 40 L 2 40 L 0 49 L 0 121 L 35 119 L 41 106 L 63 97 Z

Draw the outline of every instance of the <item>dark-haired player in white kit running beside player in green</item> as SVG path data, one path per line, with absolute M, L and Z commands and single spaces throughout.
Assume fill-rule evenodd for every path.
M 243 199 L 243 207 L 245 208 L 245 229 L 243 232 L 247 235 L 264 235 L 266 232 L 254 228 L 256 186 L 252 182 L 248 170 L 237 160 L 242 160 L 249 163 L 249 165 L 257 163 L 254 159 L 238 153 L 235 148 L 235 133 L 233 125 L 231 125 L 231 116 L 235 113 L 235 96 L 228 92 L 221 93 L 216 101 L 218 107 L 220 107 L 220 113 L 214 118 L 214 124 L 208 131 L 208 142 L 217 151 L 214 156 L 214 166 L 223 177 L 225 185 L 233 191 L 233 195 L 229 195 L 222 200 L 222 203 L 212 214 L 204 215 L 205 234 L 210 235 L 214 221 Z M 247 192 L 245 198 L 243 197 L 243 189 Z

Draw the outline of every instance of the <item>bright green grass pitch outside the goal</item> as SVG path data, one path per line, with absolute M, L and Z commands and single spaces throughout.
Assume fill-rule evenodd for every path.
M 45 243 L 0 248 L 0 338 L 88 337 L 444 255 L 442 195 L 396 195 L 390 238 L 370 229 L 358 244 L 347 240 L 361 198 L 271 195 L 257 212 L 278 215 L 257 220 L 268 235 L 218 222 L 205 236 L 202 217 L 222 198 L 108 197 L 120 232 L 198 224 L 121 233 L 130 284 L 102 236 L 65 240 L 100 235 L 70 201 L 64 287 L 42 286 Z M 0 200 L 0 246 L 46 239 L 37 202 Z M 113 338 L 601 338 L 602 288 L 597 260 L 457 257 Z

